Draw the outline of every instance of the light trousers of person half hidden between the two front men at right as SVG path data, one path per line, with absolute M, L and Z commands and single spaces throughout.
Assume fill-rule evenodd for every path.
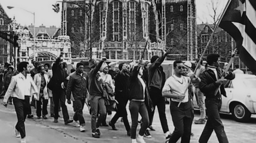
M 197 101 L 197 105 L 200 108 L 200 118 L 201 119 L 205 119 L 205 96 L 203 95 L 203 92 L 200 91 L 199 88 L 196 88 L 196 101 Z

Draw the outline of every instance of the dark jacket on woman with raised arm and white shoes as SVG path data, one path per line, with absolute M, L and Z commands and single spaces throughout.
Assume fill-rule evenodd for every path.
M 142 84 L 138 79 L 138 74 L 139 74 L 138 66 L 135 66 L 132 70 L 132 73 L 130 74 L 130 79 L 129 79 L 129 100 L 143 100 L 144 91 L 143 91 Z M 150 94 L 148 93 L 147 85 L 145 88 L 144 100 L 148 108 L 153 107 L 152 101 L 150 99 Z

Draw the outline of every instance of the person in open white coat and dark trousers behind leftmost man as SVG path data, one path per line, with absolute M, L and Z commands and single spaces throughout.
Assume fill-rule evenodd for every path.
M 35 82 L 35 85 L 39 91 L 39 93 L 36 94 L 36 116 L 37 119 L 41 119 L 41 116 L 43 119 L 47 119 L 47 104 L 49 100 L 47 83 L 49 82 L 49 79 L 47 74 L 45 74 L 44 66 L 38 66 L 37 71 L 39 73 L 36 73 L 35 77 L 33 77 L 33 81 Z

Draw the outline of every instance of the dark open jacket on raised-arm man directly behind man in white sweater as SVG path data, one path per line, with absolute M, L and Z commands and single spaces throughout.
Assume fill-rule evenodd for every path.
M 166 54 L 158 58 L 154 63 L 150 65 L 148 69 L 148 88 L 155 87 L 158 89 L 163 89 L 164 83 L 166 81 L 165 73 L 161 63 L 163 63 Z

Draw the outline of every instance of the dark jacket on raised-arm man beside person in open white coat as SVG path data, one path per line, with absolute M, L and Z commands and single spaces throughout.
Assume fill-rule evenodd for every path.
M 61 83 L 65 83 L 67 80 L 66 77 L 68 77 L 68 73 L 66 73 L 65 69 L 60 68 L 59 66 L 60 58 L 57 58 L 55 63 L 53 63 L 53 67 L 51 67 L 51 70 L 53 70 L 53 77 L 51 77 L 51 80 L 54 82 L 54 88 L 56 91 L 62 89 Z

